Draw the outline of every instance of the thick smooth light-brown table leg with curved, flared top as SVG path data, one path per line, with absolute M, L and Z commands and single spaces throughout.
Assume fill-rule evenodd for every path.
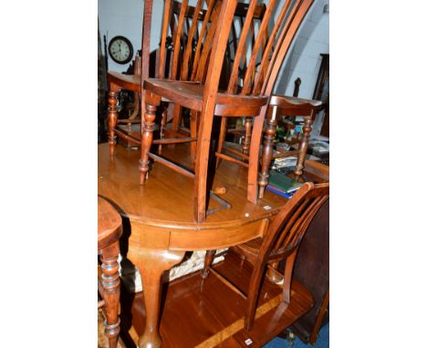
M 132 255 L 133 256 L 132 256 Z M 161 307 L 161 274 L 182 261 L 185 251 L 165 251 L 140 249 L 128 254 L 130 261 L 141 272 L 142 291 L 145 302 L 145 330 L 138 341 L 139 348 L 158 348 L 161 346 L 159 318 Z

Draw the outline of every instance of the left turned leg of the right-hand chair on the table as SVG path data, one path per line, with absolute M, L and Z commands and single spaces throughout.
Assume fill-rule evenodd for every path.
M 259 195 L 260 199 L 264 196 L 264 190 L 268 184 L 270 162 L 273 158 L 273 140 L 276 138 L 276 107 L 273 108 L 273 112 L 266 118 L 266 135 L 264 139 L 263 156 L 261 159 L 261 174 L 259 179 Z

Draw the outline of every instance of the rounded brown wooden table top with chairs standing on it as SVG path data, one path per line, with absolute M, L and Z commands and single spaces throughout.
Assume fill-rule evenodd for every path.
M 163 146 L 162 156 L 172 158 L 190 168 L 187 144 Z M 245 224 L 276 215 L 286 199 L 270 191 L 258 204 L 246 200 L 247 169 L 221 161 L 213 179 L 213 188 L 224 187 L 218 195 L 232 205 L 208 215 L 206 221 L 193 220 L 193 179 L 184 177 L 159 163 L 154 163 L 144 185 L 139 184 L 140 151 L 116 146 L 109 157 L 109 144 L 99 144 L 98 193 L 113 201 L 130 220 L 143 224 L 174 229 L 215 229 Z M 219 206 L 210 199 L 208 209 Z

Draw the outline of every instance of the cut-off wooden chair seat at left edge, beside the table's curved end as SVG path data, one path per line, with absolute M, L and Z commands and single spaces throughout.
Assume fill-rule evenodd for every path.
M 120 214 L 107 200 L 98 198 L 98 251 L 119 241 L 121 235 Z

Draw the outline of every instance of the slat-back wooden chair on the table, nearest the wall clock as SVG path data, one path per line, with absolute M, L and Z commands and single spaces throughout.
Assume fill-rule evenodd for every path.
M 208 3 L 207 9 L 203 9 L 203 3 Z M 156 78 L 168 78 L 172 80 L 197 81 L 202 82 L 206 76 L 206 61 L 208 60 L 212 47 L 213 33 L 217 25 L 219 8 L 221 2 L 198 0 L 195 6 L 188 5 L 188 0 L 164 1 L 163 21 L 161 26 L 160 48 L 156 50 L 154 56 Z M 147 1 L 144 7 L 144 27 L 142 46 L 150 46 L 150 26 L 151 26 L 152 0 Z M 150 21 L 145 18 L 150 17 Z M 209 30 L 208 30 L 209 28 Z M 210 30 L 210 29 L 213 30 Z M 211 34 L 209 34 L 211 33 Z M 150 60 L 149 52 L 142 50 L 143 66 Z M 117 125 L 117 102 L 115 93 L 120 87 L 130 87 L 130 90 L 137 90 L 141 93 L 141 81 L 149 77 L 148 71 L 142 72 L 141 76 L 123 76 L 122 74 L 109 72 L 109 86 L 112 91 L 109 102 L 109 133 L 113 131 L 121 138 L 127 138 L 134 144 L 141 145 L 139 135 L 125 134 Z M 197 83 L 195 82 L 195 83 Z M 141 105 L 143 104 L 141 96 Z M 197 128 L 196 114 L 192 113 L 190 119 L 190 129 L 182 127 L 181 106 L 172 106 L 172 115 L 168 112 L 171 100 L 161 98 L 161 126 L 160 139 L 155 139 L 154 144 L 159 145 L 161 153 L 162 144 L 179 144 L 191 142 L 192 162 L 195 160 L 195 138 Z M 142 108 L 143 110 L 144 108 Z M 168 115 L 169 113 L 169 115 Z M 168 118 L 172 118 L 172 128 L 166 128 Z M 113 129 L 113 130 L 111 130 Z M 114 152 L 114 139 L 110 141 L 111 153 Z

